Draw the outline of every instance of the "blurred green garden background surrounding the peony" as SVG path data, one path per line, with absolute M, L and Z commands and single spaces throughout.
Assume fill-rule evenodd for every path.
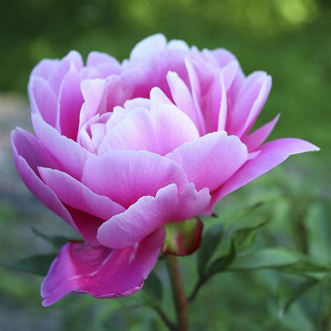
M 258 124 L 279 112 L 271 138 L 304 138 L 321 152 L 293 156 L 233 193 L 217 213 L 258 201 L 270 223 L 256 247 L 288 247 L 330 263 L 330 18 L 325 0 L 29 0 L 1 1 L 0 20 L 0 261 L 52 251 L 32 233 L 72 235 L 66 224 L 27 191 L 10 154 L 10 130 L 30 128 L 27 81 L 44 57 L 75 49 L 109 52 L 118 59 L 140 39 L 162 32 L 199 48 L 226 47 L 245 73 L 264 70 L 273 88 Z M 182 258 L 186 290 L 196 280 L 195 256 Z M 165 270 L 163 307 L 171 315 Z M 41 307 L 41 277 L 0 268 L 0 330 L 163 330 L 139 295 L 95 300 L 69 295 Z M 279 309 L 300 277 L 271 270 L 214 277 L 190 307 L 192 330 L 330 330 L 328 284 L 317 284 Z M 329 289 L 330 284 L 329 284 Z M 130 308 L 131 305 L 135 308 Z

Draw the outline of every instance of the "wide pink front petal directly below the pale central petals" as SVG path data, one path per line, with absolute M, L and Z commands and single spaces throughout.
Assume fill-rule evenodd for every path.
M 182 191 L 186 178 L 175 162 L 163 156 L 145 151 L 109 151 L 89 157 L 82 183 L 94 193 L 128 207 L 141 196 L 155 196 L 168 184 L 175 183 Z

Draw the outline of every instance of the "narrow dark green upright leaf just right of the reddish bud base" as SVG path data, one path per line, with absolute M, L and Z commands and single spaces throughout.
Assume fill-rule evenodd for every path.
M 207 263 L 212 258 L 223 234 L 223 224 L 216 223 L 203 236 L 203 242 L 198 251 L 198 272 L 202 275 L 205 272 Z

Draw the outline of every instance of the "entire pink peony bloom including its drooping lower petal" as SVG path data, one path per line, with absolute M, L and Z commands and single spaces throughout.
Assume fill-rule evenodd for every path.
M 31 73 L 35 135 L 12 133 L 15 165 L 34 195 L 82 235 L 59 251 L 43 304 L 69 292 L 130 295 L 156 263 L 166 223 L 212 214 L 223 196 L 316 151 L 304 140 L 264 143 L 278 116 L 250 133 L 271 78 L 245 76 L 230 52 L 161 34 L 121 63 L 91 52 L 45 59 Z

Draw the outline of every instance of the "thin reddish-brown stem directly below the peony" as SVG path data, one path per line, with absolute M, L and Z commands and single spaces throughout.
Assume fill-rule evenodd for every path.
M 187 300 L 184 292 L 182 278 L 179 272 L 179 265 L 176 256 L 168 255 L 165 258 L 168 268 L 170 283 L 172 287 L 172 296 L 175 301 L 178 331 L 189 330 L 189 318 L 187 313 Z

